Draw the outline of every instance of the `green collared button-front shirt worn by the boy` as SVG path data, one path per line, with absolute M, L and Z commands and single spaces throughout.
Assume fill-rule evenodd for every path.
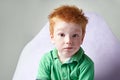
M 61 63 L 53 49 L 41 58 L 36 80 L 94 80 L 94 63 L 82 48 Z

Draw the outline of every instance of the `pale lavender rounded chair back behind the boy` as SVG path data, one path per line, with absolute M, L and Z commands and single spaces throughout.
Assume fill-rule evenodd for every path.
M 120 80 L 120 43 L 101 16 L 86 13 L 89 19 L 83 49 L 95 63 L 95 80 Z M 54 46 L 49 24 L 23 49 L 13 80 L 35 80 L 40 57 Z

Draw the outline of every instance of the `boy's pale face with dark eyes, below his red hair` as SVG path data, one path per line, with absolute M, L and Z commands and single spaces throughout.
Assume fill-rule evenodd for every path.
M 51 40 L 58 49 L 58 55 L 66 58 L 73 56 L 80 48 L 84 36 L 80 25 L 55 19 Z

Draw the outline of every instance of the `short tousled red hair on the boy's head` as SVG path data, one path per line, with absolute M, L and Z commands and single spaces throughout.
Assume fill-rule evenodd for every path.
M 50 34 L 54 33 L 54 24 L 55 21 L 53 18 L 60 18 L 65 22 L 79 24 L 82 28 L 82 33 L 85 34 L 86 24 L 88 23 L 88 19 L 84 16 L 82 9 L 77 8 L 76 6 L 63 5 L 60 6 L 48 16 L 50 23 Z

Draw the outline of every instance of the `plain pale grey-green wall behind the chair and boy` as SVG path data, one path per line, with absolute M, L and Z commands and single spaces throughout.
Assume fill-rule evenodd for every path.
M 119 0 L 0 0 L 0 80 L 12 79 L 23 47 L 62 4 L 101 15 L 120 40 Z

